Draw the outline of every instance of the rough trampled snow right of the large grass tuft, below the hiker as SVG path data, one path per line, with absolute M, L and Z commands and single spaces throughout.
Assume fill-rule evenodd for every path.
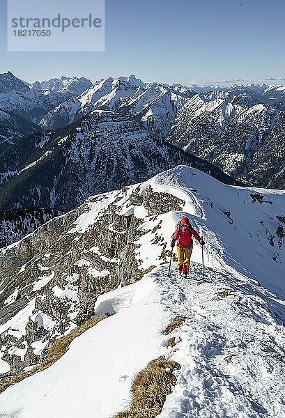
M 180 342 L 176 350 L 169 348 L 168 357 L 182 368 L 158 417 L 284 417 L 285 376 L 279 360 L 284 327 L 268 313 L 257 288 L 247 294 L 248 281 L 237 283 L 234 276 L 207 268 L 209 281 L 199 282 L 196 263 L 192 274 L 192 281 L 173 274 L 167 283 L 157 274 L 168 306 L 187 316 L 185 325 L 171 334 Z M 232 296 L 215 298 L 221 289 L 213 281 L 218 277 L 226 288 L 233 287 Z M 178 302 L 171 302 L 170 295 Z

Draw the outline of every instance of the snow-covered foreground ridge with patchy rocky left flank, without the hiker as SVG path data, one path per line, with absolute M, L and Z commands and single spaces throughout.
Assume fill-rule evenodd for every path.
M 2 323 L 2 356 L 7 348 L 10 355 L 15 349 L 8 335 L 17 333 L 17 338 L 25 338 L 29 318 L 46 323 L 49 335 L 59 335 L 56 324 L 63 327 L 63 320 L 52 314 L 45 302 L 51 297 L 49 292 L 53 307 L 63 300 L 62 306 L 68 307 L 65 315 L 70 323 L 64 330 L 68 332 L 74 326 L 82 291 L 87 294 L 101 286 L 105 293 L 108 276 L 100 273 L 118 274 L 132 249 L 129 270 L 131 267 L 134 281 L 139 270 L 144 274 L 156 267 L 138 283 L 97 294 L 95 314 L 109 311 L 111 316 L 80 336 L 50 369 L 0 394 L 0 413 L 12 417 L 20 410 L 19 418 L 24 414 L 56 418 L 68 408 L 68 417 L 73 418 L 80 405 L 83 418 L 94 411 L 100 418 L 109 418 L 128 407 L 134 374 L 150 359 L 166 355 L 180 363 L 181 369 L 176 371 L 177 385 L 167 397 L 161 417 L 201 417 L 202 412 L 209 417 L 283 417 L 284 199 L 283 191 L 224 185 L 205 173 L 180 166 L 145 183 L 88 199 L 79 210 L 35 231 L 32 240 L 28 236 L 1 250 L 2 260 L 4 256 L 12 261 L 13 254 L 25 254 L 25 242 L 30 248 L 37 242 L 43 245 L 40 253 L 15 268 L 17 294 L 23 297 L 21 283 L 34 266 L 36 293 L 26 293 L 29 303 Z M 206 241 L 205 280 L 201 247 L 196 242 L 187 281 L 176 274 L 174 263 L 171 277 L 167 277 L 168 265 L 164 264 L 169 260 L 171 233 L 182 215 L 190 217 Z M 52 242 L 50 234 L 54 235 Z M 112 249 L 106 245 L 109 234 Z M 117 240 L 121 243 L 118 247 Z M 123 242 L 130 244 L 124 255 L 119 254 Z M 11 266 L 14 268 L 13 263 Z M 123 285 L 130 283 L 125 281 L 129 270 L 121 270 Z M 45 287 L 37 290 L 48 278 Z M 4 295 L 3 302 L 10 302 L 15 289 L 9 293 L 5 286 L 3 271 L 0 297 Z M 162 330 L 177 315 L 187 320 L 170 335 L 176 346 L 167 348 L 168 336 L 162 336 Z M 47 341 L 47 334 L 38 336 L 37 341 L 32 342 L 32 349 L 38 354 L 40 341 Z M 24 358 L 24 351 L 21 355 Z M 1 367 L 8 371 L 5 358 Z

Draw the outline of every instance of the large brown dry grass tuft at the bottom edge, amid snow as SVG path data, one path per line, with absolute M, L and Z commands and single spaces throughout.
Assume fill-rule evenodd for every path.
M 132 382 L 130 410 L 120 412 L 114 418 L 153 418 L 159 415 L 172 386 L 176 385 L 174 369 L 180 369 L 180 364 L 164 357 L 148 363 Z

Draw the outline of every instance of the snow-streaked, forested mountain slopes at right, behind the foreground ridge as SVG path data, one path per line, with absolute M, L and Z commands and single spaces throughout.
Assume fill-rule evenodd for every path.
M 245 93 L 200 93 L 178 111 L 167 141 L 247 184 L 283 189 L 284 103 L 256 103 Z

